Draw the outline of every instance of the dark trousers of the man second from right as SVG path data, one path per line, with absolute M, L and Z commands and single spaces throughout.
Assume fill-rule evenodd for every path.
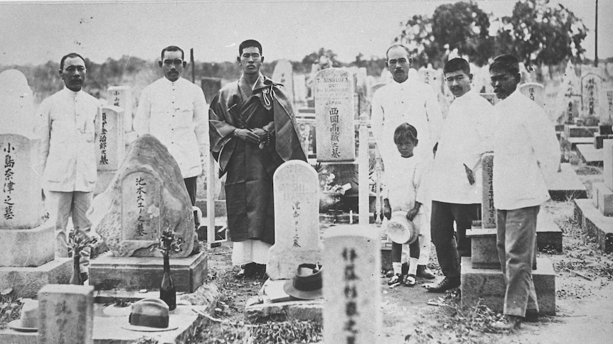
M 464 233 L 472 226 L 472 220 L 479 204 L 453 204 L 432 201 L 430 231 L 432 243 L 437 250 L 437 258 L 445 277 L 459 277 L 460 258 L 454 237 L 454 221 L 458 233 Z

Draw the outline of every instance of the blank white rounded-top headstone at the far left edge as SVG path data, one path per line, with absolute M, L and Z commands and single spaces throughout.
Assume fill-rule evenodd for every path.
M 34 137 L 34 103 L 28 79 L 18 70 L 0 73 L 0 134 Z

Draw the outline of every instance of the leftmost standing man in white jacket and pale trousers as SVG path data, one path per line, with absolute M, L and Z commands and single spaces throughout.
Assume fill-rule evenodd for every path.
M 48 210 L 55 220 L 55 257 L 68 257 L 65 232 L 69 216 L 75 230 L 95 235 L 90 233 L 92 223 L 85 213 L 97 178 L 95 135 L 101 111 L 98 100 L 82 89 L 86 74 L 81 55 L 71 52 L 62 57 L 59 75 L 64 88 L 38 107 L 40 164 Z M 89 255 L 89 249 L 81 251 L 83 279 L 87 279 Z

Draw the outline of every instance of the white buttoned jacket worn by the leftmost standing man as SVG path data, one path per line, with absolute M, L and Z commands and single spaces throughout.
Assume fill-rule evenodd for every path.
M 85 91 L 64 88 L 38 107 L 43 188 L 93 192 L 96 184 L 95 135 L 100 103 Z

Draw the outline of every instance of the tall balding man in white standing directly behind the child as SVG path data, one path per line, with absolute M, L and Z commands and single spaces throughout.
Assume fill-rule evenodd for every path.
M 432 161 L 432 151 L 439 138 L 442 121 L 437 96 L 427 84 L 408 78 L 412 60 L 405 46 L 392 45 L 385 56 L 387 57 L 385 67 L 394 80 L 375 92 L 371 118 L 371 128 L 383 166 L 385 167 L 385 161 L 394 159 L 393 154 L 397 150 L 393 140 L 394 131 L 402 123 L 410 123 L 417 129 L 417 133 L 420 133 L 420 142 L 415 148 L 415 155 L 425 160 L 427 165 Z M 426 206 L 430 208 L 430 204 Z M 430 260 L 430 231 L 424 232 L 426 233 L 420 235 L 417 277 L 433 279 L 435 275 L 427 268 Z

